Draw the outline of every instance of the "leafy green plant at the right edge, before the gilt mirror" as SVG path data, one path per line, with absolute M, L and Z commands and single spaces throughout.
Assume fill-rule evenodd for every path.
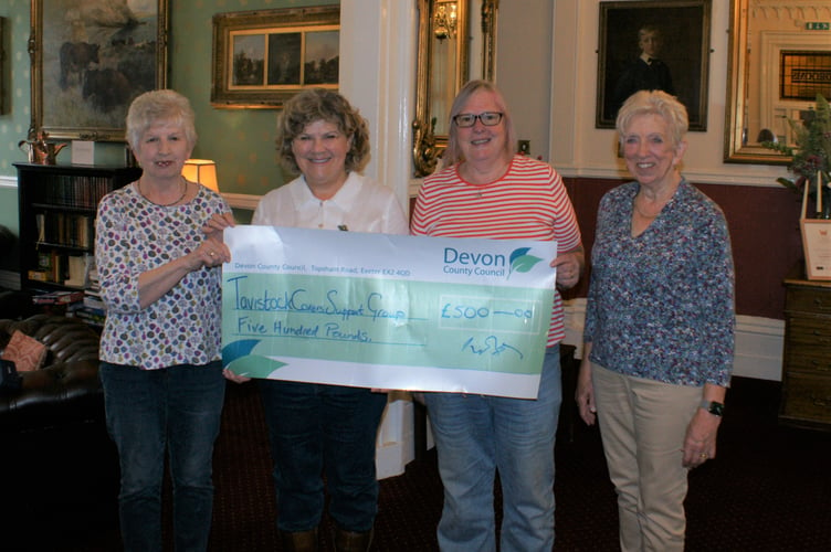
M 795 146 L 761 142 L 762 147 L 791 158 L 788 170 L 793 178 L 779 178 L 777 182 L 799 194 L 804 194 L 804 187 L 808 187 L 807 194 L 816 206 L 811 211 L 816 215 L 811 217 L 831 219 L 831 108 L 828 100 L 818 94 L 817 108 L 802 112 L 802 120 L 788 119 L 788 124 L 793 131 Z

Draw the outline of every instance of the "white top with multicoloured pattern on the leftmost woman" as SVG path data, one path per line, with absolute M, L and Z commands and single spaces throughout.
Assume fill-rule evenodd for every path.
M 102 360 L 154 370 L 221 359 L 221 268 L 188 273 L 145 309 L 138 276 L 193 251 L 211 215 L 230 211 L 204 187 L 176 206 L 147 201 L 135 183 L 102 199 L 95 223 L 95 262 L 107 305 Z

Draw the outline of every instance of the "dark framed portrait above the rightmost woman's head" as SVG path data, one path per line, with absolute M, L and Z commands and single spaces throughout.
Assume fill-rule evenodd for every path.
M 597 128 L 641 89 L 662 89 L 707 129 L 711 0 L 600 2 Z

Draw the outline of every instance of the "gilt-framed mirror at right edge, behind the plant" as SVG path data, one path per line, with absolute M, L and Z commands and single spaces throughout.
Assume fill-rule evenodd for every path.
M 831 93 L 831 0 L 732 0 L 725 161 L 787 164 L 762 141 L 792 145 L 799 120 Z

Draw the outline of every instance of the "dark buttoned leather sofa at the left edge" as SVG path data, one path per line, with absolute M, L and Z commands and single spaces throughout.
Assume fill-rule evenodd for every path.
M 118 458 L 106 433 L 96 331 L 59 316 L 3 319 L 0 350 L 15 329 L 48 353 L 43 368 L 21 373 L 19 390 L 0 392 L 0 519 L 13 529 L 0 548 L 14 537 L 39 550 L 52 531 L 88 530 L 84 518 L 117 518 Z

